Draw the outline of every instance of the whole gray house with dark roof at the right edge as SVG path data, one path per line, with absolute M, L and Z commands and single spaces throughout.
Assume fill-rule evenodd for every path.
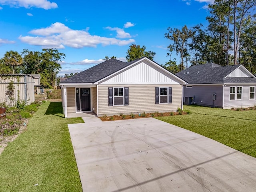
M 185 104 L 194 98 L 192 103 L 224 109 L 256 105 L 256 77 L 242 65 L 209 63 L 191 66 L 176 75 L 188 82 L 184 86 Z

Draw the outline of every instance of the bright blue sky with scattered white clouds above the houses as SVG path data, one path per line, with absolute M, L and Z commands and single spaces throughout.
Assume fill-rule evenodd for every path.
M 131 44 L 168 62 L 167 28 L 207 25 L 214 0 L 0 0 L 0 58 L 7 51 L 57 48 L 66 54 L 58 76 L 86 70 L 105 56 L 125 61 Z M 173 54 L 175 56 L 175 54 Z M 177 57 L 178 58 L 178 57 Z

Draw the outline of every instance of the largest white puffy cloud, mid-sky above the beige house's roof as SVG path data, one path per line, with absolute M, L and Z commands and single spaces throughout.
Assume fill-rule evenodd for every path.
M 123 46 L 135 42 L 134 39 L 120 40 L 117 38 L 130 37 L 119 31 L 117 38 L 107 38 L 96 35 L 90 35 L 86 30 L 72 30 L 62 23 L 56 22 L 47 28 L 35 29 L 30 31 L 30 34 L 36 36 L 19 36 L 22 42 L 30 45 L 43 46 L 46 48 L 64 48 L 69 46 L 72 48 L 83 48 L 83 47 L 96 47 L 98 44 L 103 46 L 107 45 L 118 45 Z

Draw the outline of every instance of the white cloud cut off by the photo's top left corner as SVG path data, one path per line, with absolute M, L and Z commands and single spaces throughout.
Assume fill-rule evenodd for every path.
M 53 9 L 58 8 L 55 2 L 50 2 L 48 0 L 0 0 L 1 5 L 9 5 L 10 7 L 24 7 L 24 8 L 43 8 L 43 9 Z

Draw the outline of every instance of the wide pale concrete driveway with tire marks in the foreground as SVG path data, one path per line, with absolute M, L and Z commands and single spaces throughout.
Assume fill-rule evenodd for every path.
M 256 191 L 256 158 L 219 142 L 154 118 L 84 119 L 68 125 L 84 192 Z

